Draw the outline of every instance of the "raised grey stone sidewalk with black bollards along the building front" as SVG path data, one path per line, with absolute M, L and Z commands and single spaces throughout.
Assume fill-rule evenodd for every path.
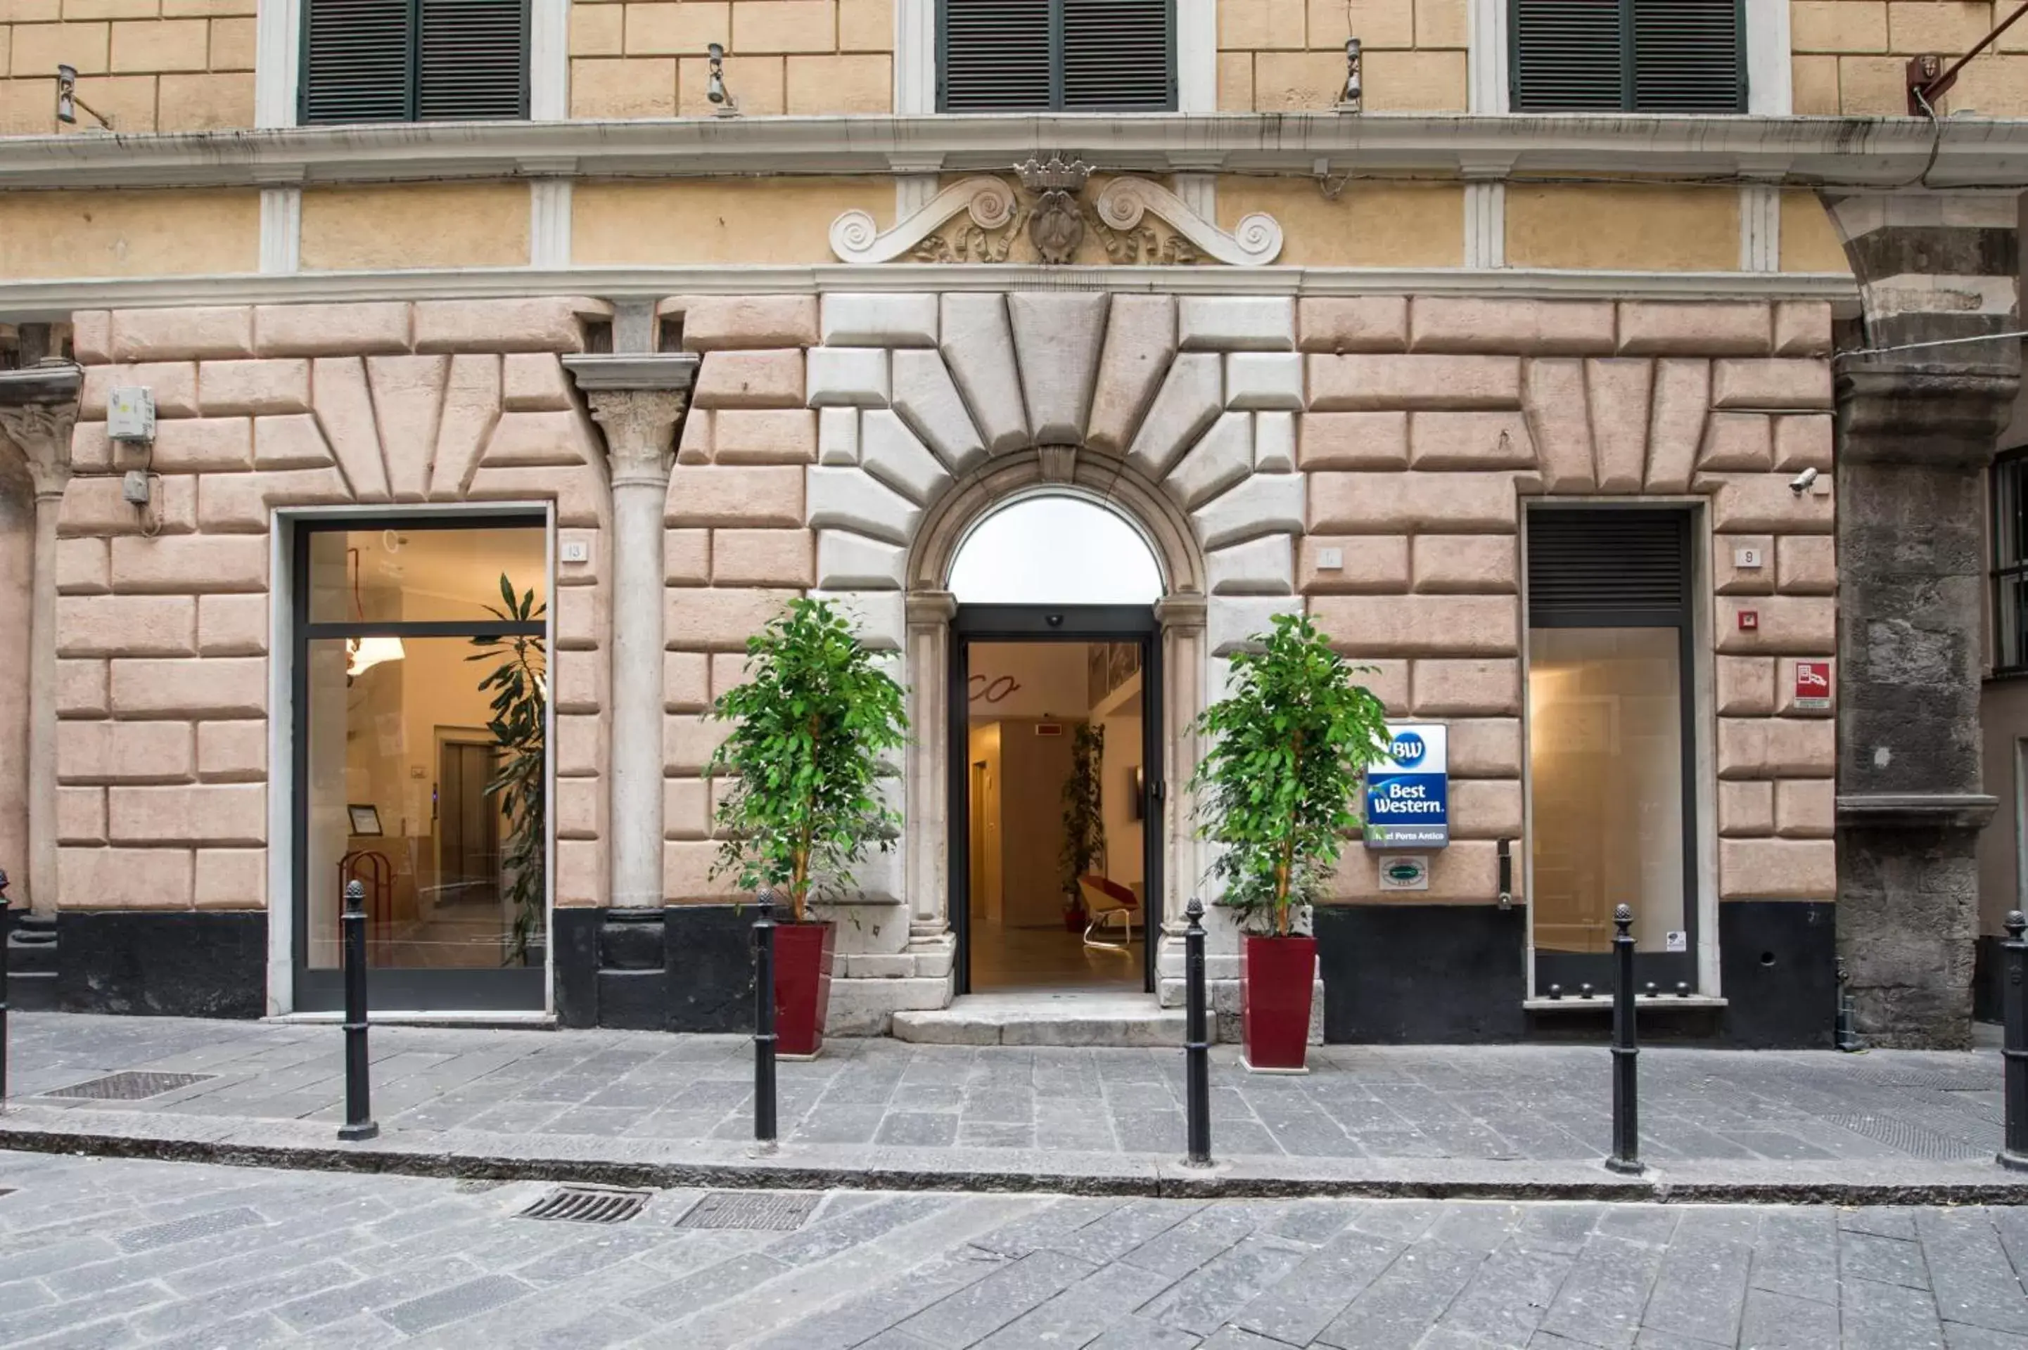
M 1600 1159 L 1610 1145 L 1600 1046 L 1322 1046 L 1308 1076 L 1213 1056 L 1221 1157 Z M 203 1074 L 144 1101 L 49 1097 L 116 1070 Z M 752 1048 L 736 1036 L 375 1028 L 373 1111 L 387 1137 L 458 1131 L 643 1141 L 750 1137 Z M 39 1115 L 89 1109 L 243 1121 L 341 1119 L 335 1026 L 16 1014 L 12 1097 Z M 795 1145 L 1022 1157 L 1176 1157 L 1178 1050 L 825 1044 L 781 1064 Z M 1643 1157 L 1738 1164 L 1991 1164 L 2000 1056 L 1645 1048 Z M 1998 1168 L 1991 1168 L 1996 1176 Z

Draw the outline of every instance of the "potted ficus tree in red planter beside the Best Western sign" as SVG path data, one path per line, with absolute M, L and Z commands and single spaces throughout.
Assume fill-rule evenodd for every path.
M 1387 714 L 1308 616 L 1278 614 L 1233 655 L 1229 693 L 1205 709 L 1209 748 L 1190 786 L 1217 845 L 1219 904 L 1239 912 L 1245 1062 L 1300 1072 L 1310 1044 L 1316 936 L 1296 932 L 1336 870 L 1361 774 L 1387 752 Z

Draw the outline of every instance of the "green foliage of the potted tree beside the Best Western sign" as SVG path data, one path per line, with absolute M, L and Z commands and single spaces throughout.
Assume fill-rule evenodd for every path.
M 1231 693 L 1197 720 L 1209 738 L 1190 789 L 1199 833 L 1221 845 L 1211 876 L 1241 922 L 1288 936 L 1336 872 L 1361 774 L 1387 752 L 1387 711 L 1308 616 L 1276 614 L 1257 651 L 1233 657 Z

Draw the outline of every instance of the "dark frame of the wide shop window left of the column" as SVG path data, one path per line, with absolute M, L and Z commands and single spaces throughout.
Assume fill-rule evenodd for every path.
M 499 620 L 444 622 L 327 622 L 310 620 L 310 537 L 349 529 L 539 529 L 548 539 L 548 517 L 505 513 L 359 513 L 314 515 L 290 523 L 290 965 L 296 1011 L 337 1011 L 345 1007 L 343 967 L 310 965 L 310 643 L 353 636 L 468 639 L 481 634 L 527 634 L 550 643 L 550 620 L 515 624 Z M 548 547 L 548 545 L 546 545 Z M 548 574 L 544 590 L 554 600 Z M 544 774 L 548 778 L 548 774 Z M 544 786 L 548 791 L 548 784 Z M 550 821 L 548 809 L 544 819 Z M 548 955 L 550 943 L 544 943 Z M 367 1005 L 381 1011 L 541 1011 L 548 993 L 548 961 L 499 969 L 373 967 Z

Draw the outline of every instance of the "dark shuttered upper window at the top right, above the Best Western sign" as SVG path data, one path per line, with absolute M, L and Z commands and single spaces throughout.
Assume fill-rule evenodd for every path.
M 1513 0 L 1513 111 L 1746 111 L 1744 0 Z

